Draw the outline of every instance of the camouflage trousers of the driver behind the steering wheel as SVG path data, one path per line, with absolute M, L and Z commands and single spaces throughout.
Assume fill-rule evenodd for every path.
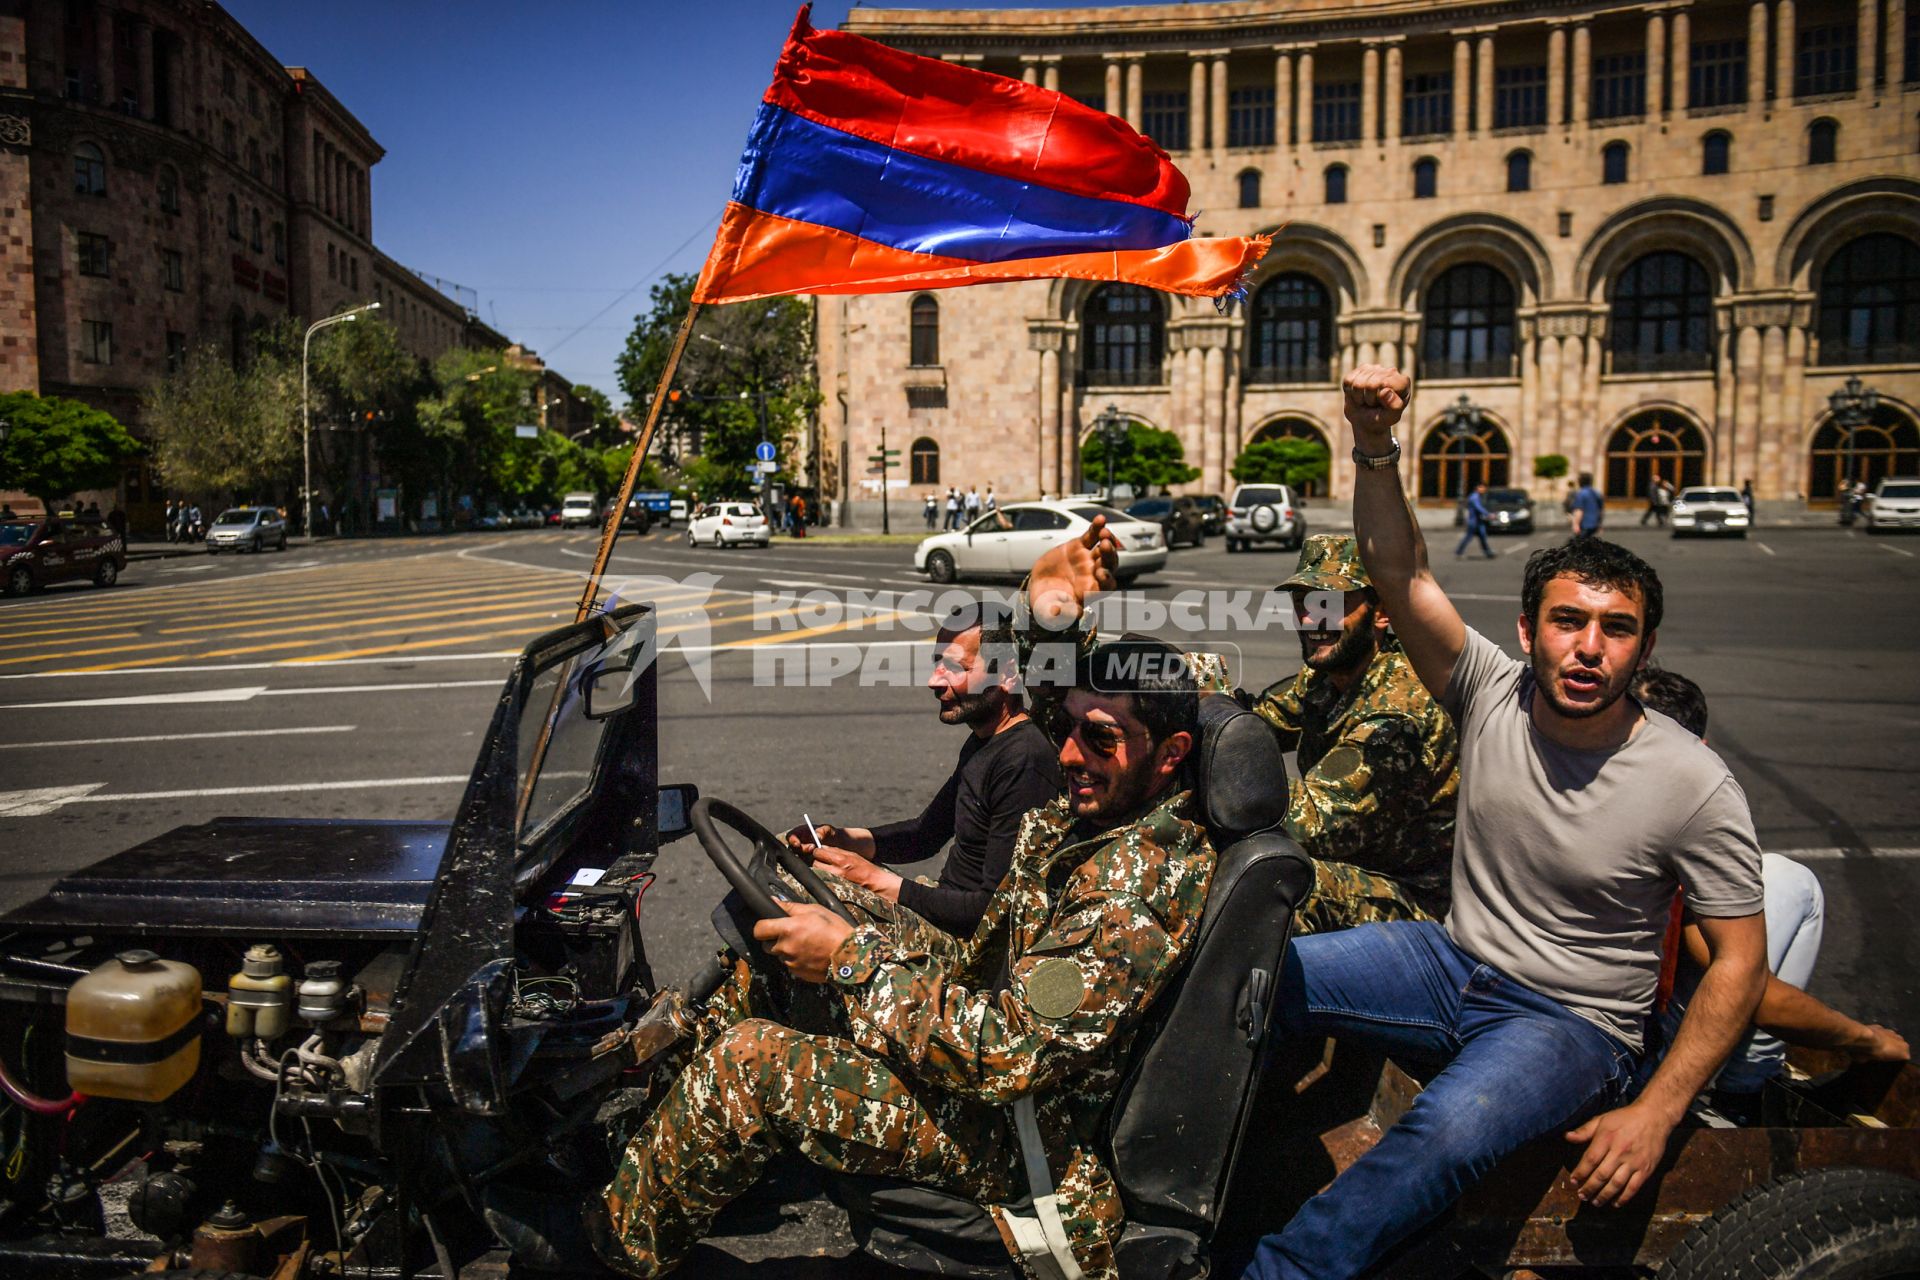
M 904 927 L 914 921 L 931 929 L 920 917 Z M 899 1077 L 845 1038 L 837 1002 L 804 983 L 776 992 L 735 961 L 701 1011 L 685 1069 L 607 1186 L 612 1234 L 626 1251 L 607 1261 L 634 1276 L 672 1270 L 781 1151 L 975 1201 L 1008 1199 L 1020 1186 L 1006 1111 Z

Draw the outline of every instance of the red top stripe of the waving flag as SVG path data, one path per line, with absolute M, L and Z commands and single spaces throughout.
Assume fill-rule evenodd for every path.
M 806 13 L 766 102 L 914 155 L 1187 217 L 1187 178 L 1125 121 L 1004 75 L 814 31 Z

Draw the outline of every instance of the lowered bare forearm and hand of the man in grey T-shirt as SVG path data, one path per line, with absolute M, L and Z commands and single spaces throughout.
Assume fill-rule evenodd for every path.
M 1766 919 L 1759 912 L 1701 917 L 1699 929 L 1711 954 L 1707 973 L 1659 1071 L 1634 1102 L 1567 1134 L 1586 1144 L 1569 1178 L 1580 1199 L 1624 1205 L 1634 1197 L 1667 1153 L 1674 1125 L 1753 1021 L 1766 983 Z

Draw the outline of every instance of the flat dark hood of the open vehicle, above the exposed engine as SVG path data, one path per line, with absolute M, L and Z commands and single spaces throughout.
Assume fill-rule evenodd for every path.
M 411 936 L 449 823 L 217 818 L 63 875 L 0 933 Z

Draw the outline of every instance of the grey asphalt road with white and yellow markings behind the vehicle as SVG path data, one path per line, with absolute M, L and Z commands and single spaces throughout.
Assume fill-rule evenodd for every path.
M 1709 741 L 1745 787 L 1763 844 L 1820 873 L 1814 992 L 1920 1032 L 1908 923 L 1920 890 L 1920 541 L 1832 528 L 1619 537 L 1665 578 L 1659 658 L 1707 689 Z M 1521 562 L 1544 541 L 1453 560 L 1436 535 L 1442 585 L 1509 651 Z M 136 562 L 108 591 L 0 601 L 0 908 L 217 816 L 451 816 L 511 656 L 572 618 L 591 553 L 588 533 L 532 530 L 323 543 Z M 1290 562 L 1229 557 L 1215 539 L 1175 553 L 1139 599 L 1246 589 L 1258 604 Z M 781 827 L 803 812 L 856 825 L 908 816 L 945 777 L 960 739 L 918 687 L 924 633 L 902 629 L 927 601 L 885 595 L 927 587 L 908 545 L 716 551 L 657 532 L 624 539 L 612 568 L 616 591 L 660 604 L 662 781 L 699 783 Z M 862 608 L 837 612 L 849 591 L 866 593 Z M 1252 685 L 1298 666 L 1279 628 L 1181 639 L 1227 651 Z M 868 679 L 780 683 L 806 664 L 814 677 L 851 664 Z M 705 921 L 722 889 L 693 841 L 668 846 L 659 869 L 647 950 L 672 981 L 710 950 Z M 833 1211 L 780 1213 L 762 1203 L 739 1215 L 722 1245 L 737 1257 L 845 1253 Z

